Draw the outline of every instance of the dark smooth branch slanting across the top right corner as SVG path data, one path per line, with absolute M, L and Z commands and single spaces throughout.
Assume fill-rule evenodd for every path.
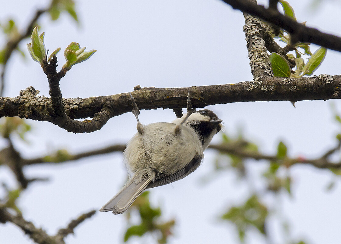
M 307 27 L 287 17 L 277 10 L 266 9 L 262 5 L 257 5 L 249 0 L 222 0 L 234 9 L 255 15 L 263 20 L 277 25 L 289 32 L 293 42 L 310 42 L 325 48 L 341 52 L 341 38 L 331 34 L 323 33 L 315 28 Z

